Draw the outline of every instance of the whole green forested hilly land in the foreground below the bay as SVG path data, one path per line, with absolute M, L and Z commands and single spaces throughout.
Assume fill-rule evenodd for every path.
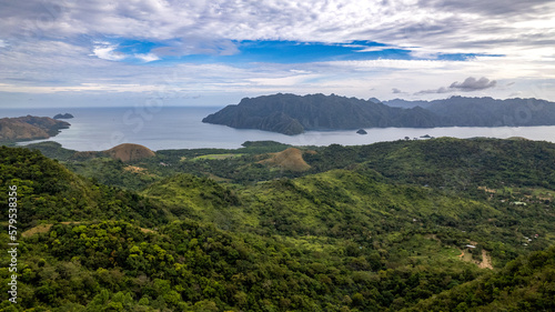
M 555 144 L 243 145 L 127 162 L 1 147 L 20 302 L 0 309 L 555 309 Z

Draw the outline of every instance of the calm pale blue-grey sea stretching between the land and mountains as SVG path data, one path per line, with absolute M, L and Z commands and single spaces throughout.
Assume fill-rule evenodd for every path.
M 152 150 L 224 148 L 236 149 L 244 141 L 272 140 L 294 145 L 343 145 L 370 144 L 394 141 L 405 137 L 473 138 L 488 137 L 505 139 L 523 137 L 531 140 L 555 142 L 555 127 L 501 127 L 501 128 L 371 128 L 369 134 L 355 131 L 309 131 L 289 137 L 260 130 L 239 130 L 225 125 L 202 123 L 201 120 L 220 108 L 73 108 L 73 109 L 2 109 L 0 118 L 20 115 L 53 117 L 69 112 L 70 129 L 62 130 L 49 140 L 67 149 L 78 151 L 107 150 L 121 143 L 137 143 Z M 26 142 L 22 144 L 28 144 Z

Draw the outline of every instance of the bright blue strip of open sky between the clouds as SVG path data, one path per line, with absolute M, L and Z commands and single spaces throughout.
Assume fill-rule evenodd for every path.
M 148 63 L 228 63 L 241 66 L 249 63 L 310 63 L 353 60 L 446 60 L 466 61 L 478 56 L 475 53 L 440 53 L 430 58 L 415 57 L 410 49 L 390 47 L 373 41 L 351 41 L 343 43 L 300 42 L 280 40 L 226 41 L 224 48 L 218 42 L 206 42 L 205 49 L 186 51 L 186 42 L 149 42 L 122 40 L 114 52 L 125 54 L 124 62 L 140 63 L 137 54 L 152 53 L 160 58 Z M 224 50 L 228 49 L 228 50 Z M 162 52 L 165 51 L 165 52 Z M 490 56 L 502 57 L 502 56 Z

